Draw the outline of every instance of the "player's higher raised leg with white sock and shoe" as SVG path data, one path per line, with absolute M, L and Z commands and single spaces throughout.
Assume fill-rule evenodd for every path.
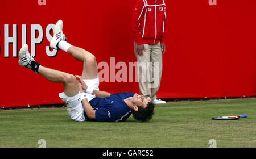
M 76 60 L 84 63 L 82 70 L 83 79 L 94 79 L 98 77 L 98 67 L 96 62 L 96 57 L 92 53 L 86 51 L 85 49 L 75 47 L 69 44 L 63 34 L 63 22 L 59 20 L 55 27 L 53 28 L 53 38 L 51 40 L 51 48 L 61 49 L 68 52 L 71 56 L 76 58 Z

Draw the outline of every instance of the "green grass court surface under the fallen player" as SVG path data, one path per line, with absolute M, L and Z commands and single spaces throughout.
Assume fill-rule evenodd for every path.
M 239 120 L 213 116 L 247 114 Z M 256 147 L 256 99 L 158 104 L 150 122 L 74 122 L 66 108 L 0 111 L 0 147 Z

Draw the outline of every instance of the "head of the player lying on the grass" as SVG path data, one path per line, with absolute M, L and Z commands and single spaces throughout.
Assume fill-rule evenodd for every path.
M 147 98 L 144 98 L 143 95 L 134 94 L 133 103 L 135 104 L 134 109 L 132 110 L 133 117 L 136 120 L 142 122 L 147 122 L 152 119 L 154 115 L 155 105 L 150 102 Z

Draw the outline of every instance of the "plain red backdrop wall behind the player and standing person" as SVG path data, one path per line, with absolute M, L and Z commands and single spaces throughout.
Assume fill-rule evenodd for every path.
M 97 62 L 110 57 L 135 62 L 131 35 L 133 1 L 0 1 L 0 106 L 63 103 L 60 83 L 51 83 L 18 65 L 13 44 L 5 55 L 5 34 L 13 37 L 17 26 L 17 50 L 22 47 L 22 24 L 26 24 L 31 48 L 31 24 L 43 28 L 43 40 L 35 45 L 35 60 L 49 68 L 81 74 L 82 64 L 59 51 L 49 57 L 46 28 L 64 22 L 68 41 L 92 52 Z M 159 98 L 243 97 L 255 95 L 256 1 L 208 0 L 171 1 L 167 4 L 167 51 Z M 9 24 L 9 31 L 5 31 Z M 39 36 L 39 31 L 35 33 Z M 14 56 L 13 56 L 14 53 Z M 16 52 L 17 53 L 17 52 Z M 115 69 L 115 73 L 118 69 Z M 110 77 L 109 77 L 110 78 Z M 100 89 L 118 93 L 139 93 L 137 82 L 101 82 Z

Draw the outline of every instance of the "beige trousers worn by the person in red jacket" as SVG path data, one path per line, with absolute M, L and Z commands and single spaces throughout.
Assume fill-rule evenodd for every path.
M 161 45 L 160 43 L 144 44 L 146 51 L 143 51 L 142 56 L 137 55 L 136 46 L 136 43 L 134 43 L 134 51 L 138 62 L 139 90 L 145 98 L 154 101 L 162 77 L 163 57 Z

